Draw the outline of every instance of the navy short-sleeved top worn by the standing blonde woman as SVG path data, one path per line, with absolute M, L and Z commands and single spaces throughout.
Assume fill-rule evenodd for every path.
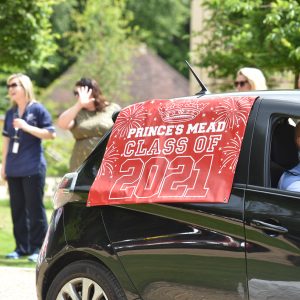
M 18 153 L 12 152 L 13 143 L 16 140 L 16 130 L 13 127 L 13 119 L 18 115 L 17 107 L 6 112 L 2 135 L 9 137 L 9 146 L 6 157 L 6 176 L 24 177 L 43 174 L 46 171 L 41 139 L 19 129 L 17 140 L 19 141 Z M 52 120 L 46 108 L 38 102 L 30 102 L 22 116 L 29 125 L 44 128 L 54 132 Z

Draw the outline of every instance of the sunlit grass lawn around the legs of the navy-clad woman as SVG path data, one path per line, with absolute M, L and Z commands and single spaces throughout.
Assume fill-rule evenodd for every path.
M 45 201 L 46 213 L 48 220 L 52 213 L 52 203 L 50 200 Z M 0 266 L 11 267 L 31 267 L 34 268 L 35 264 L 29 262 L 27 257 L 21 259 L 5 259 L 5 255 L 15 248 L 15 240 L 12 231 L 11 212 L 8 200 L 0 201 Z

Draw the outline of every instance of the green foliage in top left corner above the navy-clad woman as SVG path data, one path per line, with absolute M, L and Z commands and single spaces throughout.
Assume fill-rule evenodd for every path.
M 13 72 L 50 67 L 56 51 L 51 31 L 52 5 L 57 0 L 3 0 L 0 5 L 0 69 Z

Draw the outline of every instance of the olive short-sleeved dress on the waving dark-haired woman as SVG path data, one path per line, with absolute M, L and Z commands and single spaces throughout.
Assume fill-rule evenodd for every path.
M 71 128 L 75 145 L 70 159 L 70 171 L 76 170 L 89 156 L 101 137 L 113 126 L 113 113 L 120 109 L 118 104 L 110 103 L 101 112 L 82 109 L 77 114 Z

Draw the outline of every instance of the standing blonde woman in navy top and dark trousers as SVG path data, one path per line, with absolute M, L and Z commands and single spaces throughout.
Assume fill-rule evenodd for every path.
M 1 176 L 7 180 L 16 248 L 6 255 L 29 255 L 36 262 L 46 231 L 43 205 L 46 161 L 42 139 L 55 137 L 51 116 L 34 98 L 31 80 L 24 74 L 7 79 L 12 107 L 6 112 L 2 131 Z

